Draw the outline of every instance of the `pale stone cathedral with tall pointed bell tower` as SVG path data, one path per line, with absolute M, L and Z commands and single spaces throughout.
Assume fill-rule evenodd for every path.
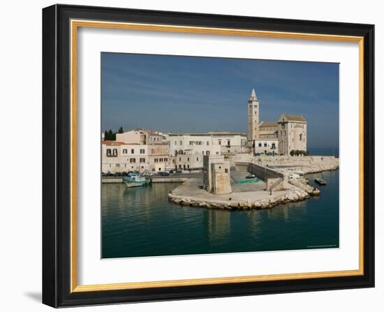
M 290 155 L 290 151 L 307 151 L 307 121 L 302 115 L 281 114 L 278 121 L 260 122 L 260 102 L 252 89 L 248 101 L 249 149 L 254 155 Z

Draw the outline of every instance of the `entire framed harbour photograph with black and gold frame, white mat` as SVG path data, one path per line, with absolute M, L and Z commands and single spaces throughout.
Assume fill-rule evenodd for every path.
M 374 25 L 43 9 L 43 303 L 374 287 Z

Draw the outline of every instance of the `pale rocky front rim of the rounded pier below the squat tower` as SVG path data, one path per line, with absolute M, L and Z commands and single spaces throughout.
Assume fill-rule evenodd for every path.
M 311 196 L 297 186 L 289 184 L 285 191 L 276 191 L 272 195 L 267 191 L 238 192 L 215 196 L 204 190 L 187 195 L 193 182 L 186 181 L 168 194 L 168 199 L 182 206 L 203 207 L 209 209 L 249 210 L 267 209 L 286 202 L 297 202 Z

